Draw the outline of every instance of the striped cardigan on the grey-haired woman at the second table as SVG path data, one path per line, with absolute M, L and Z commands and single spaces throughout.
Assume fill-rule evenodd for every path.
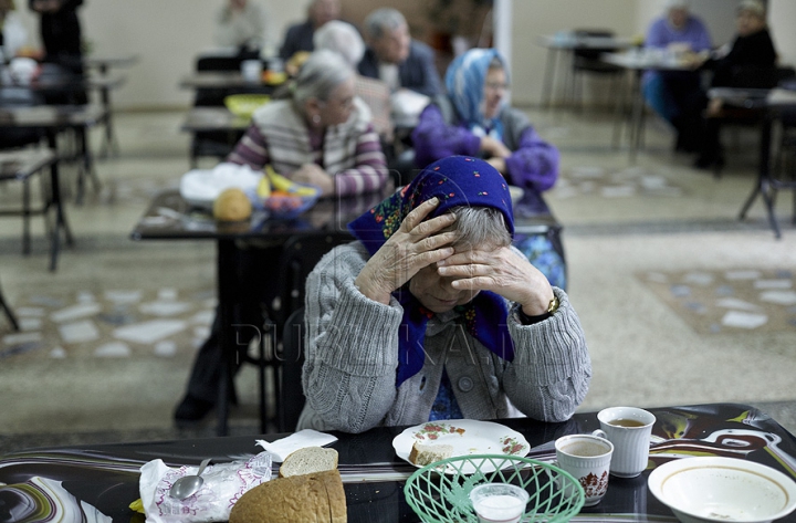
M 254 113 L 252 126 L 227 161 L 255 170 L 271 164 L 289 178 L 302 165 L 314 163 L 335 177 L 335 192 L 341 196 L 369 192 L 387 180 L 387 161 L 370 123 L 370 111 L 358 98 L 348 121 L 327 127 L 320 144 L 310 139 L 304 118 L 292 101 L 271 102 Z

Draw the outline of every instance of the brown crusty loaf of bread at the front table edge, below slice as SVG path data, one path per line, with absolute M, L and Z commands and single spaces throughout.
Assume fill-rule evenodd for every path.
M 232 506 L 230 523 L 346 523 L 345 491 L 337 470 L 266 481 Z

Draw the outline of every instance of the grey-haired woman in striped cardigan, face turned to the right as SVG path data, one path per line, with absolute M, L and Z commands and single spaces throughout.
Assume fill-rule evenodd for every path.
M 263 105 L 227 158 L 255 170 L 270 164 L 324 196 L 379 189 L 387 166 L 370 109 L 354 95 L 354 70 L 332 51 L 316 51 L 302 66 L 287 100 Z

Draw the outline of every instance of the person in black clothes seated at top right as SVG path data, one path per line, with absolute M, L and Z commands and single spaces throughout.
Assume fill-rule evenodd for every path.
M 702 64 L 713 71 L 711 87 L 772 88 L 776 86 L 777 52 L 766 23 L 766 9 L 758 0 L 737 4 L 736 34 L 731 45 L 719 49 Z M 719 142 L 720 117 L 724 104 L 711 100 L 701 127 L 702 146 L 694 166 L 708 169 L 724 164 Z

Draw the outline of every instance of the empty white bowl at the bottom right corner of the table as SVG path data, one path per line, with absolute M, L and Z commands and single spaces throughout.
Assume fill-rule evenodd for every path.
M 767 523 L 796 509 L 796 481 L 740 458 L 669 461 L 647 483 L 683 523 Z

